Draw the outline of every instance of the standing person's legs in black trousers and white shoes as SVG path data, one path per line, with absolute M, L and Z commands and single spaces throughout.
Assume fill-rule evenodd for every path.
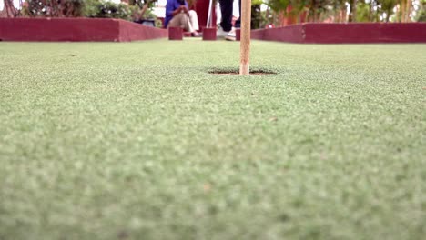
M 234 0 L 219 0 L 220 13 L 222 20 L 218 27 L 217 36 L 224 37 L 228 41 L 235 41 L 235 28 L 240 28 L 241 25 L 241 0 L 238 0 L 239 17 L 235 22 L 235 27 L 232 27 L 232 13 L 234 10 Z

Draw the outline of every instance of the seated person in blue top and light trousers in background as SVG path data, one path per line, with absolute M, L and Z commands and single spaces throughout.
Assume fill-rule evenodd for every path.
M 164 25 L 180 26 L 192 36 L 198 36 L 198 16 L 194 10 L 188 10 L 186 0 L 167 0 Z

